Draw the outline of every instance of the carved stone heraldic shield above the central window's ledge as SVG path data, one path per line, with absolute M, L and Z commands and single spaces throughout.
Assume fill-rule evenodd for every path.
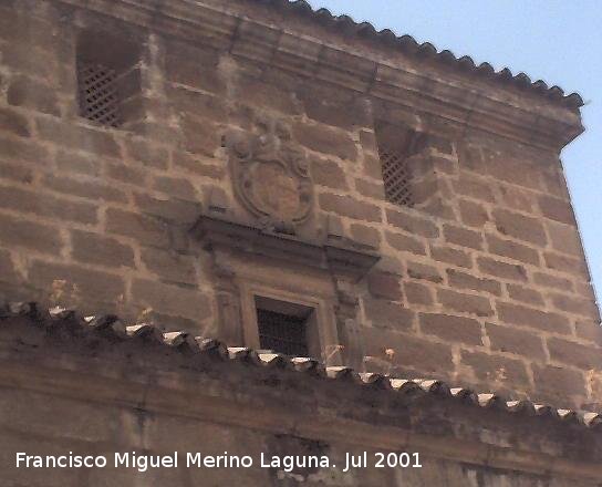
M 262 118 L 258 126 L 259 134 L 226 135 L 235 194 L 263 225 L 293 230 L 313 205 L 305 154 L 290 143 L 290 132 L 281 122 Z

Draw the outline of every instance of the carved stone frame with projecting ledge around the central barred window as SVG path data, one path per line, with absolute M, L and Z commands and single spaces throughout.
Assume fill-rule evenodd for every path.
M 220 340 L 260 348 L 255 303 L 260 296 L 315 309 L 319 346 L 312 345 L 310 355 L 330 364 L 359 362 L 355 284 L 378 261 L 373 249 L 335 235 L 334 228 L 325 239 L 305 240 L 225 217 L 216 208 L 201 215 L 191 232 L 209 252 Z

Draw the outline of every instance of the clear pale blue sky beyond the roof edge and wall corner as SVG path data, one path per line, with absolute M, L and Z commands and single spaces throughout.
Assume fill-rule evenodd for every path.
M 585 133 L 561 154 L 598 302 L 602 300 L 602 1 L 308 0 L 496 70 L 578 92 Z M 598 211 L 601 211 L 600 214 Z

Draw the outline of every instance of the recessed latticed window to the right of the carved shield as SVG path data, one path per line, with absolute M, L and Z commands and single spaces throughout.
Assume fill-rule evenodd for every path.
M 375 133 L 387 201 L 414 206 L 414 175 L 408 157 L 418 152 L 421 137 L 412 129 L 388 124 L 377 124 Z

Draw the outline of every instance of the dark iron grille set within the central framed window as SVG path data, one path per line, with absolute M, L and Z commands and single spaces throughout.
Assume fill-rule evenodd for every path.
M 257 324 L 261 349 L 292 356 L 308 356 L 307 319 L 258 308 Z

